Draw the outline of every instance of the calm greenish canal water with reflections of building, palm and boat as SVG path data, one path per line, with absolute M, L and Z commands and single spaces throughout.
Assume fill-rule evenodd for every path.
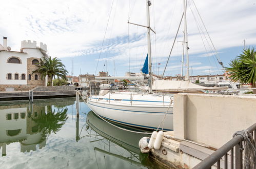
M 123 131 L 75 99 L 0 103 L 0 168 L 163 168 Z

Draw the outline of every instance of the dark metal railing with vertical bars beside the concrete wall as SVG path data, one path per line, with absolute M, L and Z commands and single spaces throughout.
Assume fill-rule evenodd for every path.
M 256 123 L 251 125 L 247 131 L 249 133 L 254 132 L 254 140 L 256 141 Z M 241 135 L 234 136 L 231 140 L 229 140 L 226 144 L 224 144 L 220 149 L 216 150 L 214 153 L 209 155 L 206 159 L 200 162 L 198 165 L 194 166 L 194 169 L 202 169 L 202 168 L 211 168 L 217 162 L 217 168 L 220 168 L 220 160 L 224 157 L 224 165 L 227 168 L 227 153 L 230 153 L 230 168 L 233 168 L 233 147 L 235 147 L 235 168 L 242 168 L 242 141 L 243 137 Z

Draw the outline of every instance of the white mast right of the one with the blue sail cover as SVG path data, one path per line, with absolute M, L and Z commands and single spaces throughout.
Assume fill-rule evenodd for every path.
M 187 2 L 187 0 L 186 0 Z M 185 34 L 185 50 L 186 50 L 186 58 L 187 58 L 187 73 L 185 76 L 185 80 L 189 81 L 189 60 L 188 60 L 188 30 L 187 30 L 187 3 L 183 0 L 183 7 L 184 7 L 184 34 Z

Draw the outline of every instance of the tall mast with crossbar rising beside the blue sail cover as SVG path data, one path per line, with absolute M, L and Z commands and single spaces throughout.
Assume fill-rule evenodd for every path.
M 149 18 L 149 6 L 151 2 L 146 0 L 147 9 L 147 39 L 148 39 L 148 74 L 149 74 L 149 93 L 152 93 L 152 72 L 151 72 L 151 41 L 150 41 L 150 18 Z

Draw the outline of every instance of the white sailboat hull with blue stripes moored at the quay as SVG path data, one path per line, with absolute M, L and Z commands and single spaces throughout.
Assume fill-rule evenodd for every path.
M 171 107 L 168 110 L 168 105 L 124 105 L 90 98 L 87 104 L 93 112 L 105 119 L 145 129 L 157 129 L 166 116 L 163 130 L 173 130 L 173 109 Z M 159 129 L 162 129 L 162 124 Z

